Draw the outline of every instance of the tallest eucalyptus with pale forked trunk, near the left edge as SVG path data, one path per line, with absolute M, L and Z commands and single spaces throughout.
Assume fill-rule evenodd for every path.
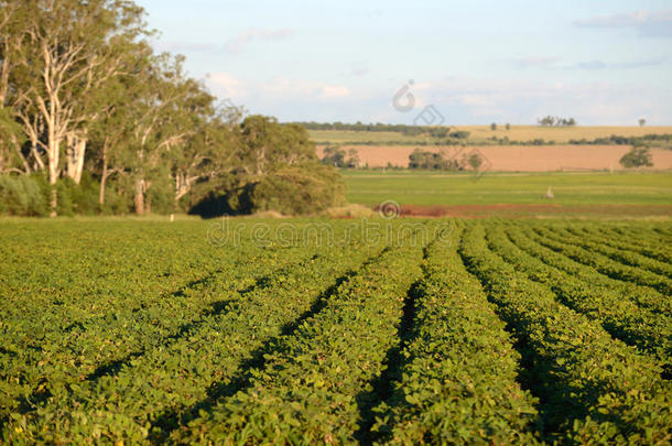
M 64 164 L 79 182 L 98 91 L 121 74 L 124 48 L 144 34 L 143 10 L 124 0 L 22 0 L 14 110 L 45 154 L 53 186 Z M 63 160 L 64 154 L 66 160 Z M 65 163 L 64 163 L 65 161 Z M 55 215 L 56 193 L 52 192 Z

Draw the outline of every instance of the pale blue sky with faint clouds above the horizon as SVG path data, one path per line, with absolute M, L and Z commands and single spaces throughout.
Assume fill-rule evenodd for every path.
M 158 51 L 280 121 L 672 124 L 672 1 L 138 0 Z

